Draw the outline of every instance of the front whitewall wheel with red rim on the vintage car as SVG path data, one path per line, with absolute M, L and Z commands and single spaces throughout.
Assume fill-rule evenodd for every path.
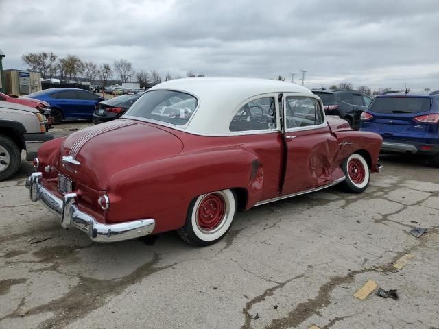
M 342 170 L 346 180 L 342 182 L 344 191 L 348 193 L 361 193 L 369 185 L 370 169 L 368 162 L 361 154 L 351 154 L 342 163 Z

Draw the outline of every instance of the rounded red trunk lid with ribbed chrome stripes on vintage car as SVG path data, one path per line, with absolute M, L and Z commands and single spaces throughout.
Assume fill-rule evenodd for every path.
M 157 125 L 119 119 L 71 134 L 61 146 L 58 172 L 96 190 L 105 190 L 115 173 L 169 158 L 183 149 L 180 139 Z M 73 156 L 80 164 L 62 161 Z M 73 186 L 73 190 L 75 186 Z

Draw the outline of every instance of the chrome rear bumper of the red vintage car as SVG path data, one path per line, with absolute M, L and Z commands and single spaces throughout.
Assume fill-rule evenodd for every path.
M 154 219 L 140 219 L 117 224 L 102 224 L 95 218 L 82 212 L 76 204 L 75 193 L 64 195 L 60 199 L 50 193 L 41 184 L 42 173 L 32 173 L 27 178 L 26 187 L 33 202 L 40 200 L 51 212 L 60 217 L 62 228 L 71 226 L 86 232 L 95 242 L 115 242 L 139 238 L 151 234 L 156 225 Z

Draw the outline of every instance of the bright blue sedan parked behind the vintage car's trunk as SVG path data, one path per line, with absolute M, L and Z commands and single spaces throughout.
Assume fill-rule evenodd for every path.
M 62 120 L 91 119 L 95 105 L 103 97 L 78 88 L 51 88 L 27 95 L 50 104 L 55 123 Z

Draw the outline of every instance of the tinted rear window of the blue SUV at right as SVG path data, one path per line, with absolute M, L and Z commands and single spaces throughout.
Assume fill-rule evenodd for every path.
M 429 98 L 416 97 L 377 97 L 369 110 L 384 114 L 411 114 L 430 110 Z

